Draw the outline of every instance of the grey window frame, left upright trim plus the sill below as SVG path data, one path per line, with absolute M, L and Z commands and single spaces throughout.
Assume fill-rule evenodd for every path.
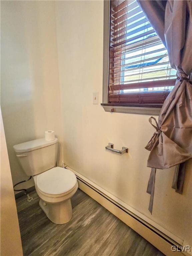
M 129 104 L 111 104 L 108 103 L 108 86 L 109 86 L 109 43 L 110 43 L 110 1 L 104 0 L 104 22 L 103 22 L 103 100 L 101 105 L 104 110 L 119 113 L 134 113 L 144 115 L 159 115 L 161 107 L 140 107 L 128 106 Z

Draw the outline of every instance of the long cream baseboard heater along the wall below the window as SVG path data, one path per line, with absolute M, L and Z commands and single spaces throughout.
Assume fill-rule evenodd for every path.
M 68 166 L 66 166 L 65 168 L 68 169 Z M 71 168 L 69 169 L 72 170 Z M 79 189 L 84 191 L 95 201 L 105 207 L 108 211 L 113 213 L 117 218 L 119 218 L 130 228 L 140 234 L 143 238 L 145 238 L 148 242 L 154 245 L 162 253 L 167 256 L 189 255 L 186 252 L 182 252 L 182 245 L 178 244 L 176 241 L 172 240 L 161 231 L 157 230 L 155 227 L 139 218 L 137 215 L 131 213 L 129 210 L 119 205 L 117 202 L 109 198 L 97 188 L 93 187 L 87 181 L 80 178 L 77 175 L 77 172 L 75 172 L 75 175 L 78 180 Z M 172 251 L 172 246 L 177 248 L 177 251 Z

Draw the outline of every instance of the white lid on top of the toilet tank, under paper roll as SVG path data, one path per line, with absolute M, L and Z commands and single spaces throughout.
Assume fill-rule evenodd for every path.
M 17 153 L 29 152 L 38 148 L 44 148 L 50 145 L 53 145 L 58 142 L 58 139 L 55 138 L 54 140 L 45 140 L 45 138 L 31 140 L 27 142 L 23 142 L 13 146 L 13 149 Z

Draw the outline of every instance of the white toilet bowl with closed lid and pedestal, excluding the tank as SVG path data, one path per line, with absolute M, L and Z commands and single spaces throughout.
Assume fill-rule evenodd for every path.
M 33 176 L 35 189 L 41 198 L 39 205 L 46 216 L 56 224 L 72 218 L 71 197 L 78 188 L 76 176 L 66 168 L 54 167 Z

